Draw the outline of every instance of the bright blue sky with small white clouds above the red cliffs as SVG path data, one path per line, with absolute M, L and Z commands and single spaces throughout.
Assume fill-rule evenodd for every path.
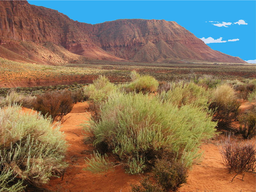
M 196 37 L 204 37 L 202 40 L 214 50 L 243 60 L 256 60 L 256 1 L 28 1 L 28 3 L 55 9 L 70 19 L 91 24 L 134 18 L 176 21 Z

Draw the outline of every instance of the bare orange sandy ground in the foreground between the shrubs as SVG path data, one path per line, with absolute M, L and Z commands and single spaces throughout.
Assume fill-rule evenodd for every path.
M 73 110 L 64 117 L 67 120 L 62 124 L 60 131 L 66 134 L 69 147 L 64 161 L 68 163 L 65 173 L 60 178 L 52 177 L 43 188 L 54 192 L 128 192 L 131 183 L 138 183 L 139 175 L 129 175 L 121 167 L 103 174 L 92 174 L 82 169 L 86 167 L 84 159 L 90 158 L 93 153 L 91 144 L 84 144 L 86 134 L 79 124 L 88 121 L 85 111 L 88 104 L 77 103 Z M 78 126 L 77 126 L 78 125 Z M 255 140 L 254 140 L 255 141 Z M 212 143 L 211 143 L 212 142 Z M 255 192 L 255 173 L 245 172 L 238 174 L 231 183 L 236 173 L 229 173 L 221 164 L 221 156 L 215 143 L 216 140 L 205 141 L 201 145 L 204 158 L 189 170 L 187 183 L 177 191 L 179 192 Z

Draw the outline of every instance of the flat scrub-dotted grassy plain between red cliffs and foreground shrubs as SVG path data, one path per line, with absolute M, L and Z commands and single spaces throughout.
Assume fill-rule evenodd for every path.
M 220 79 L 244 79 L 255 78 L 255 69 L 255 65 L 188 61 L 169 64 L 93 60 L 84 64 L 59 63 L 56 66 L 48 66 L 0 58 L 0 87 L 46 86 L 74 82 L 86 84 L 92 83 L 99 75 L 107 76 L 110 82 L 128 82 L 131 81 L 132 70 L 153 76 L 158 81 L 187 78 L 191 72 L 213 75 Z

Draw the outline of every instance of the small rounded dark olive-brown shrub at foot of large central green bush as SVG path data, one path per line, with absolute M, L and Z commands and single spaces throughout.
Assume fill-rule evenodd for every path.
M 175 190 L 187 181 L 187 168 L 181 162 L 157 160 L 153 168 L 156 182 L 165 191 Z

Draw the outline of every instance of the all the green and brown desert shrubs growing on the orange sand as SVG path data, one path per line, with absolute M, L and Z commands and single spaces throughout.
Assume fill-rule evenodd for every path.
M 202 156 L 201 143 L 218 132 L 234 131 L 234 123 L 240 125 L 242 137 L 255 136 L 253 80 L 244 82 L 250 87 L 246 98 L 252 107 L 241 112 L 238 81 L 222 82 L 195 73 L 175 81 L 157 81 L 135 70 L 129 75 L 132 81 L 124 84 L 99 75 L 88 86 L 74 83 L 77 89 L 45 89 L 35 96 L 17 89 L 7 92 L 0 99 L 0 191 L 20 191 L 27 183 L 39 186 L 65 169 L 66 143 L 59 125 L 52 122 L 61 121 L 74 103 L 83 100 L 89 102 L 91 113 L 82 126 L 97 149 L 86 159 L 85 170 L 99 173 L 122 166 L 127 173 L 148 172 L 155 178 L 154 182 L 142 178 L 132 185 L 132 192 L 179 188 Z M 39 113 L 23 113 L 21 106 Z M 219 148 L 230 172 L 255 170 L 253 145 L 228 139 Z M 237 156 L 245 156 L 246 151 L 249 159 L 235 162 L 229 151 Z

